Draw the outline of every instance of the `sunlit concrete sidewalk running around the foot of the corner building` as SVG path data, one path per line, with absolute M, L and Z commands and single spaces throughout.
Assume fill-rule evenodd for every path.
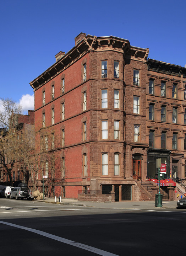
M 38 202 L 54 203 L 61 205 L 76 205 L 76 206 L 88 206 L 96 208 L 123 208 L 123 209 L 143 209 L 143 210 L 160 210 L 160 209 L 176 209 L 177 201 L 163 201 L 162 207 L 155 207 L 154 201 L 140 201 L 140 202 L 90 202 L 90 201 L 77 201 L 77 199 L 66 199 L 61 198 L 61 203 L 59 199 L 56 198 L 44 198 L 44 200 L 35 200 Z

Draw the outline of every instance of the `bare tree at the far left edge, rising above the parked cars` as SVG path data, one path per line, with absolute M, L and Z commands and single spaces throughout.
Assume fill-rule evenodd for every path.
M 21 113 L 21 105 L 17 105 L 11 98 L 0 98 L 0 164 L 9 175 L 11 186 L 13 185 L 11 173 L 17 157 L 16 140 L 13 133 L 18 115 Z

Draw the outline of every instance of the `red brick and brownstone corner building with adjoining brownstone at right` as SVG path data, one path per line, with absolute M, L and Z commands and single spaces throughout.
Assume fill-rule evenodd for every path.
M 37 129 L 60 137 L 60 168 L 48 191 L 77 198 L 113 190 L 116 201 L 150 200 L 141 181 L 155 178 L 157 158 L 166 178 L 185 177 L 186 69 L 147 60 L 148 53 L 126 39 L 80 33 L 31 81 Z

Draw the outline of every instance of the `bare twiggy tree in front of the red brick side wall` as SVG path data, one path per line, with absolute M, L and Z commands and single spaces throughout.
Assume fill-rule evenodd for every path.
M 31 127 L 24 131 L 22 141 L 18 143 L 18 164 L 25 172 L 24 175 L 28 174 L 32 181 L 33 191 L 36 190 L 39 177 L 46 175 L 50 181 L 54 178 L 59 147 L 57 138 L 48 128 L 35 132 L 35 128 Z

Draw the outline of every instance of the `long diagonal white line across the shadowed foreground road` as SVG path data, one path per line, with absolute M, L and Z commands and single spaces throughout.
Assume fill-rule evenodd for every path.
M 65 244 L 76 246 L 76 247 L 81 248 L 83 250 L 94 252 L 95 254 L 99 254 L 99 255 L 102 255 L 102 256 L 118 256 L 116 254 L 112 254 L 112 253 L 107 252 L 107 251 L 99 250 L 95 247 L 84 245 L 84 244 L 81 244 L 81 243 L 78 243 L 78 242 L 75 242 L 75 241 L 72 241 L 72 240 L 69 240 L 69 239 L 61 238 L 60 236 L 55 236 L 55 235 L 52 235 L 52 234 L 49 234 L 49 233 L 46 233 L 46 232 L 43 232 L 43 231 L 40 231 L 40 230 L 37 230 L 37 229 L 27 228 L 25 226 L 20 226 L 20 225 L 12 224 L 12 223 L 9 223 L 9 222 L 3 222 L 3 221 L 0 221 L 0 223 L 5 224 L 5 225 L 9 225 L 9 226 L 13 226 L 13 227 L 19 228 L 19 229 L 24 229 L 24 230 L 36 233 L 38 235 L 45 236 L 45 237 L 50 238 L 50 239 L 54 239 L 56 241 L 63 242 Z

